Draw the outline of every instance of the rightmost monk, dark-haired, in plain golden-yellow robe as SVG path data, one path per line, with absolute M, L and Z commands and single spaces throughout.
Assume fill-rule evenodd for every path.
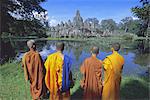
M 124 58 L 118 53 L 119 43 L 112 44 L 112 54 L 104 61 L 104 87 L 102 100 L 119 100 L 121 72 L 124 65 Z

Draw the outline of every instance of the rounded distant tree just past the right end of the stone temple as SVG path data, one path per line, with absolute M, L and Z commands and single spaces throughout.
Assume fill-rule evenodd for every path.
M 109 30 L 110 32 L 112 32 L 116 28 L 116 22 L 113 19 L 102 20 L 101 28 L 102 30 Z

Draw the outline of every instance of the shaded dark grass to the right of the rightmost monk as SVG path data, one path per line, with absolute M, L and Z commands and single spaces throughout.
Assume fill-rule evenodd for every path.
M 124 77 L 121 84 L 121 98 L 125 100 L 149 100 L 149 85 L 148 78 Z

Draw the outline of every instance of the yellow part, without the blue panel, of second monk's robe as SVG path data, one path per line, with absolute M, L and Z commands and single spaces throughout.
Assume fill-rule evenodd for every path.
M 63 70 L 63 58 L 61 57 L 61 52 L 49 55 L 45 62 L 45 68 L 45 83 L 50 91 L 50 100 L 59 100 Z

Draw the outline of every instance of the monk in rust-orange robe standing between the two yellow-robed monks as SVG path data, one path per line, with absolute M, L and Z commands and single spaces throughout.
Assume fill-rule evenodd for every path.
M 84 89 L 85 100 L 100 100 L 102 92 L 102 61 L 97 59 L 99 48 L 94 46 L 91 57 L 85 59 L 80 71 L 83 74 L 81 88 Z

